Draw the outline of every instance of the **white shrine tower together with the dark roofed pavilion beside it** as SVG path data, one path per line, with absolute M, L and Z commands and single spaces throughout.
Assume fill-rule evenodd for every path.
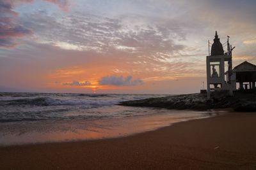
M 217 31 L 213 40 L 209 55 L 206 57 L 207 69 L 207 98 L 233 96 L 235 90 L 256 90 L 256 66 L 244 61 L 232 69 L 232 45 L 229 44 L 229 36 L 223 50 Z

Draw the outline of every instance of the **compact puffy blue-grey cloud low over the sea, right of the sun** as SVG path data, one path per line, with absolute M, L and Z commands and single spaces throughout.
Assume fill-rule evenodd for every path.
M 142 85 L 143 81 L 140 79 L 132 80 L 132 76 L 104 76 L 99 80 L 100 85 L 115 85 L 115 86 L 135 86 Z

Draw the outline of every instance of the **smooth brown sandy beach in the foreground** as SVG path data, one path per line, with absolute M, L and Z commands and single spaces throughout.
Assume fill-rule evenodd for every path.
M 125 138 L 1 147 L 0 169 L 256 169 L 256 113 Z

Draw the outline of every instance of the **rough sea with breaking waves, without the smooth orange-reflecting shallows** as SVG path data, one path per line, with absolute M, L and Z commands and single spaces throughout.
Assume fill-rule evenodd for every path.
M 115 106 L 122 101 L 145 99 L 138 94 L 0 93 L 1 122 L 87 120 L 148 114 Z M 132 110 L 132 111 L 129 111 Z

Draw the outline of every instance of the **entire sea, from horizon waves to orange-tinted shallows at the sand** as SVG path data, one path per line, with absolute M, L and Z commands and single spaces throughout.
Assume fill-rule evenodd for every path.
M 119 138 L 216 111 L 119 106 L 150 94 L 0 93 L 0 146 Z

